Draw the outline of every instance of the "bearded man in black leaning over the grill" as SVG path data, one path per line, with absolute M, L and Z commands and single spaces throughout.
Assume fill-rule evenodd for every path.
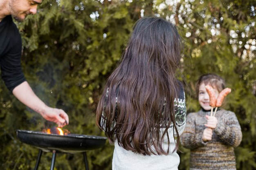
M 61 109 L 48 107 L 32 91 L 21 69 L 21 36 L 13 23 L 25 20 L 29 14 L 36 14 L 42 0 L 0 0 L 0 68 L 1 77 L 13 95 L 23 104 L 33 109 L 48 121 L 59 127 L 69 123 L 67 113 Z

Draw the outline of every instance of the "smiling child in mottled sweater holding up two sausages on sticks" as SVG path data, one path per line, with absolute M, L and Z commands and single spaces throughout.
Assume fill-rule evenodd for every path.
M 215 74 L 202 75 L 196 86 L 201 110 L 190 113 L 181 144 L 191 150 L 190 170 L 236 170 L 234 147 L 242 140 L 242 132 L 235 113 L 218 109 L 210 116 L 210 97 L 205 88 L 211 85 L 216 98 L 225 88 L 225 81 Z

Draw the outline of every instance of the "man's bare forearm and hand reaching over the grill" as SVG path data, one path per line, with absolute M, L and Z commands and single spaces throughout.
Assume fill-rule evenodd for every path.
M 36 96 L 27 81 L 16 86 L 12 93 L 20 102 L 42 115 L 46 120 L 55 122 L 59 127 L 63 127 L 69 123 L 67 113 L 62 109 L 47 106 Z

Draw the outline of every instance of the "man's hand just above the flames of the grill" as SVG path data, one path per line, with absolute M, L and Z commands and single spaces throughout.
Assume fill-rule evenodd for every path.
M 46 106 L 46 108 L 40 112 L 40 115 L 48 121 L 55 122 L 58 127 L 63 127 L 69 123 L 68 115 L 62 109 Z

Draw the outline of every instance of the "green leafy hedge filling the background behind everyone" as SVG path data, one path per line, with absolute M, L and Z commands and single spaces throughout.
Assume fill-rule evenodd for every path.
M 62 108 L 72 133 L 104 136 L 95 126 L 95 108 L 106 78 L 115 68 L 132 31 L 143 15 L 174 22 L 183 38 L 179 78 L 186 82 L 187 112 L 197 111 L 195 82 L 205 73 L 226 79 L 232 93 L 226 109 L 234 111 L 243 130 L 236 148 L 239 170 L 256 168 L 256 60 L 254 0 L 43 0 L 37 15 L 17 23 L 23 41 L 22 68 L 35 93 L 47 105 Z M 144 12 L 141 11 L 144 9 Z M 249 47 L 248 47 L 249 46 Z M 250 49 L 251 48 L 251 49 Z M 33 169 L 38 150 L 22 144 L 16 129 L 54 126 L 26 108 L 0 80 L 0 169 Z M 189 169 L 189 150 L 182 152 L 180 170 Z M 110 170 L 113 146 L 88 151 L 90 169 Z M 39 170 L 50 167 L 43 153 Z M 57 154 L 55 170 L 84 169 L 81 154 Z

